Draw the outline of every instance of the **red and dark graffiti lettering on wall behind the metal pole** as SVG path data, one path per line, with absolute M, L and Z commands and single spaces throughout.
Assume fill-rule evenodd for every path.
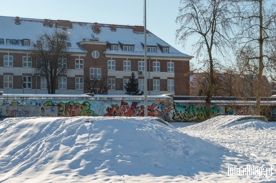
M 112 108 L 107 107 L 107 113 L 104 116 L 144 116 L 144 105 L 140 105 L 139 101 L 130 101 L 131 104 L 128 105 L 127 102 L 121 101 L 121 106 L 117 104 L 111 105 Z M 162 116 L 161 112 L 155 108 L 157 104 L 151 104 L 148 106 L 148 116 Z

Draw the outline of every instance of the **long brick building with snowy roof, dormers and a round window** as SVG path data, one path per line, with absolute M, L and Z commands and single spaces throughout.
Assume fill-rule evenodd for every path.
M 34 76 L 38 60 L 28 56 L 39 34 L 54 29 L 71 36 L 68 72 L 56 93 L 88 93 L 84 80 L 108 78 L 115 84 L 105 92 L 124 95 L 124 83 L 134 71 L 139 88 L 148 78 L 148 95 L 189 95 L 189 55 L 179 52 L 147 31 L 147 71 L 144 71 L 144 27 L 68 20 L 0 16 L 0 90 L 4 93 L 48 93 L 45 78 Z

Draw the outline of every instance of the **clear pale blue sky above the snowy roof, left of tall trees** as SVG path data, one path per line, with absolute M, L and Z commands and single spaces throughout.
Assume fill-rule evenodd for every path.
M 147 29 L 182 53 L 192 54 L 175 43 L 175 23 L 180 0 L 147 0 Z M 105 24 L 143 25 L 144 0 L 9 0 L 1 1 L 0 16 L 19 16 Z

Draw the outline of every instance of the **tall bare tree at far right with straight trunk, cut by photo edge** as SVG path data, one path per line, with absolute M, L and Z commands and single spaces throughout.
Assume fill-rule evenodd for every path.
M 271 40 L 275 41 L 276 9 L 274 1 L 234 0 L 238 2 L 234 18 L 240 27 L 236 30 L 237 62 L 244 75 L 257 76 L 256 115 L 260 115 L 264 91 L 263 71 L 268 64 Z M 252 80 L 253 81 L 253 80 Z

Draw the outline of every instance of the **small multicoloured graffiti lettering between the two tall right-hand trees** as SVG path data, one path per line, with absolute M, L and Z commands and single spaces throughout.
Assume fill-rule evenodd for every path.
M 255 115 L 256 111 L 252 106 L 228 106 L 225 107 L 225 115 Z

